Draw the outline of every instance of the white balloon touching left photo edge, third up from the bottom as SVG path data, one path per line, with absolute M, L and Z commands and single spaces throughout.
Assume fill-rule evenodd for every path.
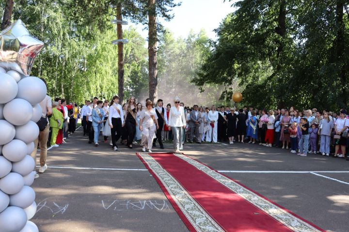
M 0 179 L 0 190 L 6 194 L 16 194 L 23 186 L 23 176 L 18 173 L 9 173 Z

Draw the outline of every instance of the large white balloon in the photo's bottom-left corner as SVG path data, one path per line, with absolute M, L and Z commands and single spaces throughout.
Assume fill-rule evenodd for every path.
M 0 213 L 1 232 L 21 231 L 26 223 L 27 214 L 22 208 L 10 206 Z

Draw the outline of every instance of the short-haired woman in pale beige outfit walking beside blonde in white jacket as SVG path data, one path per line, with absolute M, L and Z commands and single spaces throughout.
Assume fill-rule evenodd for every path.
M 152 101 L 147 101 L 145 107 L 140 114 L 140 131 L 142 131 L 141 145 L 143 146 L 143 152 L 145 152 L 145 147 L 148 148 L 148 152 L 152 152 L 155 131 L 159 129 L 158 116 L 153 110 Z

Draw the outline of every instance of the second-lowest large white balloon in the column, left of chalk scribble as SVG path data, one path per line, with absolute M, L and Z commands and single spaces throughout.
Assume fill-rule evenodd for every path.
M 10 195 L 10 205 L 21 207 L 23 209 L 29 207 L 35 201 L 35 192 L 29 186 L 23 188 L 16 194 Z

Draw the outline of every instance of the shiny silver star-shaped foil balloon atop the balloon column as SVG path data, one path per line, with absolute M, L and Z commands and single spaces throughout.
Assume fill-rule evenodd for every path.
M 0 67 L 28 76 L 44 43 L 33 38 L 22 20 L 0 32 Z

